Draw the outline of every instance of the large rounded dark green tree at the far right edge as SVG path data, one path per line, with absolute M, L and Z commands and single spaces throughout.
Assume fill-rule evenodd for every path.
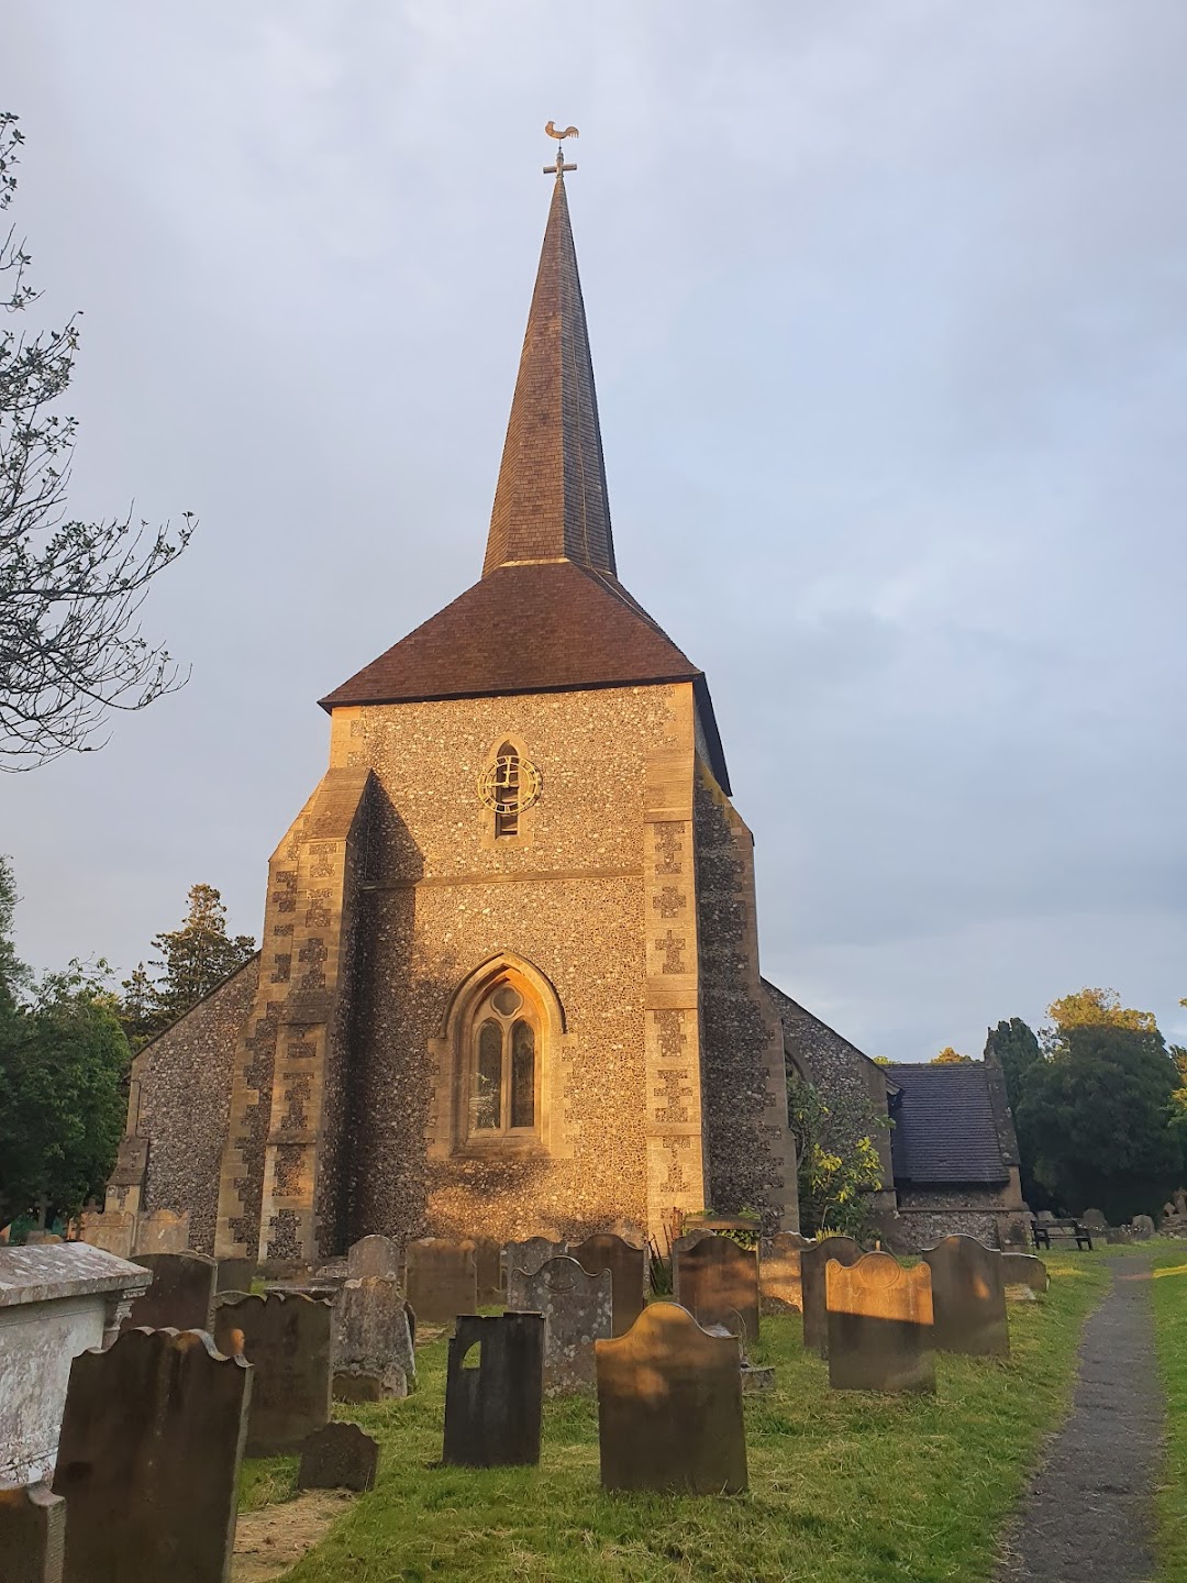
M 1181 1086 L 1157 1027 L 1133 1013 L 1060 1023 L 1049 1054 L 1026 1072 L 1018 1103 L 1037 1179 L 1075 1214 L 1089 1205 L 1114 1224 L 1157 1214 L 1184 1173 L 1187 1133 L 1173 1100 Z

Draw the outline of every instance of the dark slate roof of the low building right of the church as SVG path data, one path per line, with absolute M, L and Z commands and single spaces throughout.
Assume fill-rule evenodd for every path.
M 1003 1183 L 1010 1167 L 984 1062 L 894 1062 L 891 1159 L 896 1183 Z

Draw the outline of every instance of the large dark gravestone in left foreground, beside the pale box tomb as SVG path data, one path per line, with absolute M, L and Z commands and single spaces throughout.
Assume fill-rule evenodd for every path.
M 65 1583 L 228 1575 L 252 1376 L 198 1330 L 128 1330 L 74 1358 L 54 1474 Z

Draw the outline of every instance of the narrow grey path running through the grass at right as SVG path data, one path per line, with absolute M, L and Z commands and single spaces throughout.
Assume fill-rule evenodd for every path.
M 999 1583 L 1147 1583 L 1163 1414 L 1149 1262 L 1117 1258 L 1084 1327 L 1071 1415 L 1007 1537 Z

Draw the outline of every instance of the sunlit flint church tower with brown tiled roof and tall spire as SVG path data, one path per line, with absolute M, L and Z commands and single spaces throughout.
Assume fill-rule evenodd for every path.
M 798 1224 L 752 837 L 703 673 L 617 578 L 565 168 L 483 575 L 321 700 L 258 964 L 136 1059 L 116 1206 L 220 1258 Z

